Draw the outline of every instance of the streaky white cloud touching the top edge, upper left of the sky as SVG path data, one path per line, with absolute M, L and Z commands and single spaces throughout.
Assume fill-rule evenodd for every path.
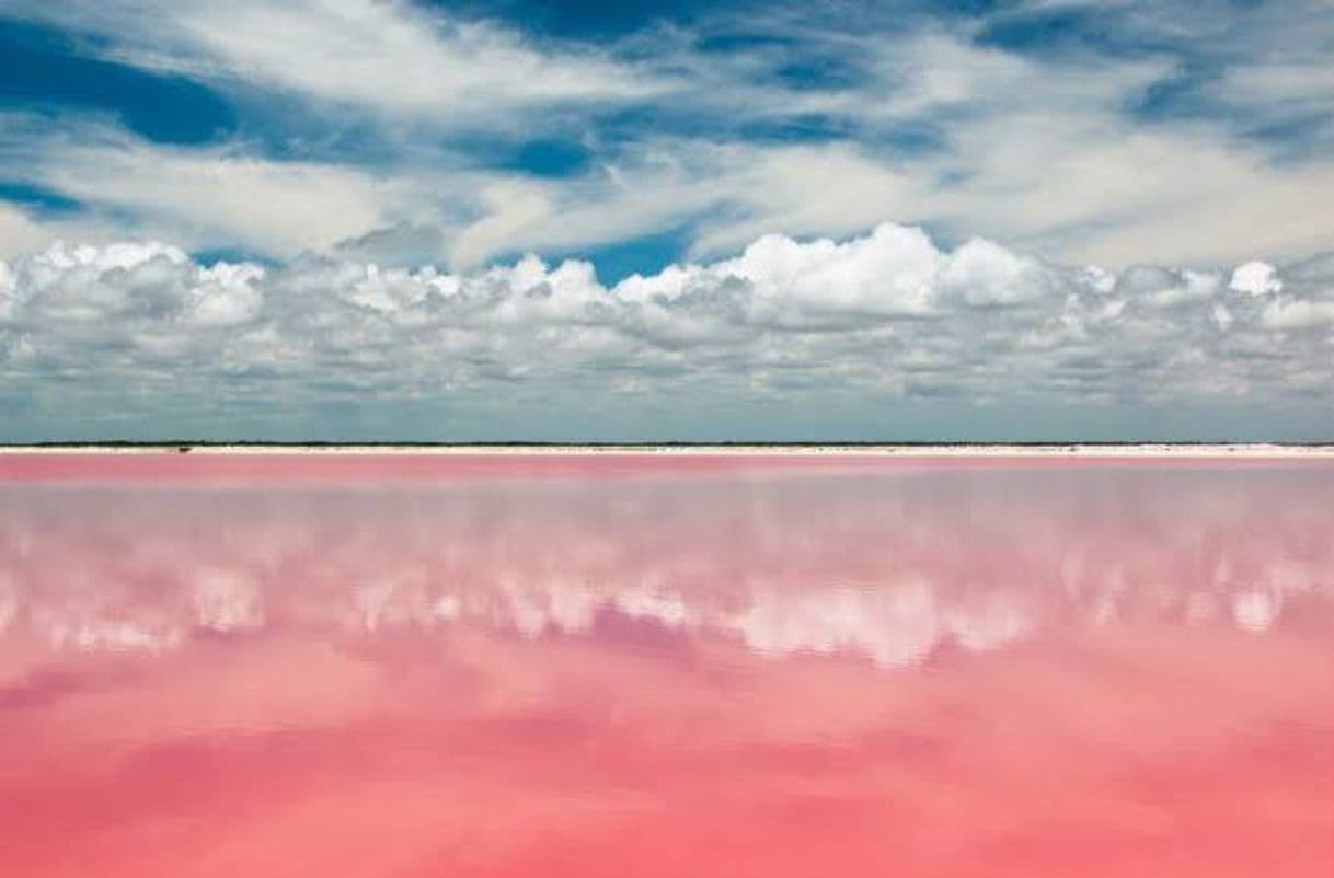
M 112 40 L 147 68 L 261 85 L 439 127 L 470 116 L 644 97 L 667 83 L 592 49 L 548 51 L 515 31 L 407 0 L 13 3 L 24 15 Z

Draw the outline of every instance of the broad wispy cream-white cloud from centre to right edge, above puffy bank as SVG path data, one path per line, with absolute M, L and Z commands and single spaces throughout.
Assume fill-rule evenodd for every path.
M 868 37 L 886 61 L 858 91 L 791 95 L 746 83 L 686 99 L 732 120 L 842 119 L 827 143 L 648 135 L 564 180 L 510 179 L 456 239 L 460 264 L 522 248 L 576 248 L 690 226 L 690 255 L 767 234 L 848 235 L 886 216 L 984 235 L 1063 262 L 1222 264 L 1293 259 L 1334 243 L 1323 155 L 1274 161 L 1225 123 L 1126 115 L 1170 63 L 1019 59 L 963 37 Z M 946 79 L 952 84 L 943 84 Z M 902 129 L 938 143 L 898 153 Z

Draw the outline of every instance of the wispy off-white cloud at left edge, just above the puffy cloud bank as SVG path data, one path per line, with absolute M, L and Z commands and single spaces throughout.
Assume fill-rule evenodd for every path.
M 467 212 L 463 193 L 474 188 L 471 173 L 378 173 L 260 159 L 239 144 L 151 144 L 100 120 L 0 113 L 0 128 L 13 132 L 0 148 L 0 176 L 80 204 L 76 212 L 29 216 L 0 203 L 0 255 L 11 258 L 55 240 L 127 238 L 291 258 L 427 219 L 431 240 L 418 255 L 436 259 L 444 252 L 446 228 L 464 222 L 448 211 Z

